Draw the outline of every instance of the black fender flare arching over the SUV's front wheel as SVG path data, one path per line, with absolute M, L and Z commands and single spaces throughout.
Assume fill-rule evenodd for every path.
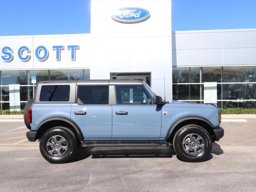
M 208 121 L 206 118 L 200 117 L 200 116 L 186 116 L 182 117 L 178 120 L 176 120 L 169 128 L 167 135 L 166 135 L 166 140 L 172 143 L 172 140 L 174 138 L 175 133 L 182 128 L 183 126 L 189 125 L 189 124 L 194 124 L 201 126 L 204 128 L 212 137 L 212 142 L 214 142 L 215 139 L 215 134 L 213 131 L 214 125 Z

